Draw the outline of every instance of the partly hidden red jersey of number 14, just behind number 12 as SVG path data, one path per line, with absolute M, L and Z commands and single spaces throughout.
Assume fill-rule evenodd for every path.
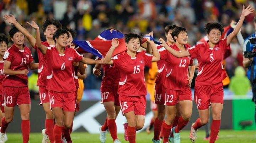
M 160 60 L 156 62 L 158 67 L 158 75 L 156 76 L 155 83 L 164 85 L 166 78 L 166 61 L 165 59 L 163 59 L 163 57 L 166 54 L 166 49 L 164 47 L 161 47 L 158 49 L 158 52 L 160 54 Z

